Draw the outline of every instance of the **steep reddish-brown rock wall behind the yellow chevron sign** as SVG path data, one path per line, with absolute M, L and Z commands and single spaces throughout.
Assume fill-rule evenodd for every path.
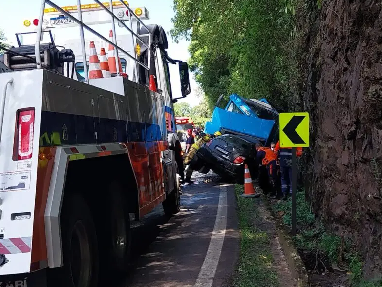
M 382 1 L 323 0 L 306 24 L 304 106 L 315 213 L 382 273 Z M 314 164 L 313 164 L 314 163 Z

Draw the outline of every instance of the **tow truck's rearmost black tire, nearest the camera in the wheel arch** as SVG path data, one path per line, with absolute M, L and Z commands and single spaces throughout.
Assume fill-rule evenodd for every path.
M 48 282 L 52 286 L 97 287 L 98 242 L 90 209 L 81 195 L 65 196 L 60 218 L 64 266 L 49 269 Z

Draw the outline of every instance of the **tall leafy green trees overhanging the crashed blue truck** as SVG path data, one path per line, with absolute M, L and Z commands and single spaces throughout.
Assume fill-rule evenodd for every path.
M 191 41 L 189 60 L 210 107 L 221 94 L 286 105 L 295 77 L 288 39 L 294 0 L 174 0 L 174 41 Z

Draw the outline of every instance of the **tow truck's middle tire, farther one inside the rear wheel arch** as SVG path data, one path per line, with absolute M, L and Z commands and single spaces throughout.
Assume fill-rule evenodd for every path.
M 104 214 L 104 225 L 100 225 L 103 230 L 99 230 L 100 238 L 103 237 L 100 245 L 100 254 L 105 254 L 106 261 L 104 269 L 107 274 L 126 272 L 129 265 L 131 251 L 131 231 L 130 219 L 127 204 L 123 197 L 123 188 L 118 182 L 108 185 L 107 200 L 111 208 Z M 104 250 L 101 250 L 105 247 Z

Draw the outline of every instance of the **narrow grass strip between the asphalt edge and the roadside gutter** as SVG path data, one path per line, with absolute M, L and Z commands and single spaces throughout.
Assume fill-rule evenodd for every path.
M 242 198 L 243 186 L 236 184 L 241 232 L 240 261 L 235 287 L 278 287 L 277 273 L 272 269 L 273 257 L 269 250 L 269 239 L 265 231 L 255 227 L 259 220 L 254 199 Z

